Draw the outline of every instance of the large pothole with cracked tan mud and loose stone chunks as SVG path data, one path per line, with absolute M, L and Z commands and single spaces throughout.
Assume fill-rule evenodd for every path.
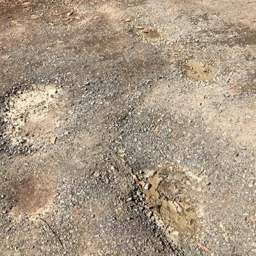
M 197 237 L 202 218 L 201 178 L 177 163 L 165 163 L 139 171 L 134 180 L 151 205 L 157 224 L 165 227 L 171 241 Z

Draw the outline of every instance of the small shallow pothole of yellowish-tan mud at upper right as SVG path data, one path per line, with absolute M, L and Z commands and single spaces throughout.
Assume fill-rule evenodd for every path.
M 197 60 L 188 60 L 184 65 L 184 68 L 186 70 L 186 75 L 199 81 L 212 80 L 216 73 L 215 68 L 210 65 L 200 63 Z

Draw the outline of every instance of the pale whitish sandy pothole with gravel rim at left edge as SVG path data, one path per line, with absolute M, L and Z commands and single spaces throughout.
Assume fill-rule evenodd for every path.
M 4 139 L 10 147 L 28 146 L 33 149 L 49 144 L 51 136 L 65 125 L 68 99 L 54 85 L 37 85 L 28 91 L 18 91 L 4 105 Z

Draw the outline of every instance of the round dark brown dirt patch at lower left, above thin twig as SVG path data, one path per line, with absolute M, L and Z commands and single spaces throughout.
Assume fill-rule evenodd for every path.
M 15 207 L 12 214 L 37 215 L 47 210 L 54 199 L 51 178 L 25 178 L 14 188 Z

